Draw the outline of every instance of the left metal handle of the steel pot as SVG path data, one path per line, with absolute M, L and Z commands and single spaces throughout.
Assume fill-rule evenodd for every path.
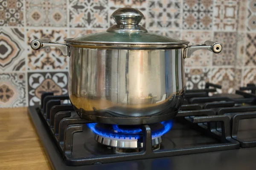
M 33 50 L 39 50 L 46 47 L 57 47 L 61 50 L 64 56 L 70 56 L 70 49 L 66 44 L 51 42 L 49 38 L 36 39 L 31 41 L 30 46 Z

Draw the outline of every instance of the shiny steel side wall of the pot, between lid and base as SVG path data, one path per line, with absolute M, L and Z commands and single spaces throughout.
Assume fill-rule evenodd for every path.
M 78 57 L 70 57 L 70 101 L 80 113 L 153 116 L 183 101 L 181 49 L 72 48 L 71 55 Z

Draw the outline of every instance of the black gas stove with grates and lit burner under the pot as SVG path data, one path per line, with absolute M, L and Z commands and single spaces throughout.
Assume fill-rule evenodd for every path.
M 42 94 L 41 106 L 30 106 L 28 112 L 54 169 L 114 169 L 124 164 L 127 169 L 148 169 L 155 162 L 170 169 L 180 155 L 212 159 L 221 150 L 239 150 L 230 156 L 241 160 L 244 152 L 256 153 L 256 86 L 248 84 L 236 94 L 216 94 L 217 88 L 221 86 L 206 83 L 204 89 L 186 90 L 175 119 L 150 125 L 90 122 L 64 104 L 68 96 L 49 92 Z

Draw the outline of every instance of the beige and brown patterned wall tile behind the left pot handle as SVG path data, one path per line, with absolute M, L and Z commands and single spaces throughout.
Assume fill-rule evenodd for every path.
M 30 42 L 34 39 L 49 38 L 52 42 L 64 42 L 67 30 L 64 29 L 27 29 L 28 70 L 68 69 L 68 57 L 58 48 L 32 50 Z

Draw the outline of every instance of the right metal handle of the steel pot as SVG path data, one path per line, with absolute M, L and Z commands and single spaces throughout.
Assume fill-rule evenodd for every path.
M 184 58 L 190 58 L 191 54 L 197 50 L 209 50 L 214 53 L 220 53 L 222 45 L 218 42 L 206 41 L 204 44 L 188 46 L 184 49 Z

